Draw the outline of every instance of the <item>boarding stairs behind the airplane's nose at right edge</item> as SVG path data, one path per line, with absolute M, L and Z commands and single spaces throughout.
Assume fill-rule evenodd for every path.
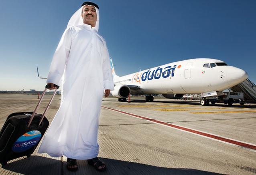
M 244 82 L 233 86 L 231 89 L 233 92 L 243 92 L 244 100 L 247 103 L 256 103 L 256 86 L 249 79 L 246 79 Z

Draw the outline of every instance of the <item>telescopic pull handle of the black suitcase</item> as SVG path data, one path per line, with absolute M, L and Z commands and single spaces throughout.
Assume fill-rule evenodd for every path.
M 58 86 L 58 85 L 54 84 L 53 86 L 54 86 L 54 87 L 57 87 L 57 88 L 56 88 L 55 91 L 53 92 L 53 96 L 51 97 L 51 99 L 50 99 L 50 101 L 49 101 L 49 103 L 48 103 L 48 105 L 47 105 L 47 107 L 46 107 L 46 109 L 45 109 L 45 111 L 44 111 L 44 113 L 43 113 L 43 116 L 42 116 L 41 119 L 40 119 L 39 125 L 42 123 L 42 121 L 43 121 L 43 119 L 44 119 L 44 117 L 45 117 L 45 113 L 46 113 L 47 110 L 49 109 L 49 107 L 50 107 L 50 105 L 51 105 L 51 102 L 53 101 L 53 98 L 54 98 L 54 96 L 55 96 L 57 90 L 59 89 L 59 86 Z M 45 93 L 46 93 L 47 89 L 50 88 L 50 87 L 51 87 L 50 84 L 47 84 L 47 85 L 45 86 L 45 90 L 43 91 L 43 94 L 41 95 L 41 98 L 39 99 L 39 102 L 38 102 L 38 104 L 37 104 L 37 106 L 36 106 L 36 108 L 35 108 L 35 110 L 34 110 L 32 116 L 30 117 L 30 119 L 29 119 L 29 121 L 28 121 L 28 126 L 27 126 L 27 127 L 30 126 L 32 120 L 34 119 L 34 117 L 35 117 L 35 115 L 36 115 L 37 108 L 39 107 L 39 105 L 40 105 L 40 103 L 41 103 L 43 97 L 45 96 Z

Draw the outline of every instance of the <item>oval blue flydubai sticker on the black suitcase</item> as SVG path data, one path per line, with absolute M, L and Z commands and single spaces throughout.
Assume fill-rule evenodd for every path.
M 27 133 L 24 133 L 22 136 L 20 136 L 15 143 L 12 146 L 12 151 L 16 153 L 20 153 L 23 151 L 26 151 L 39 142 L 41 139 L 41 132 L 34 130 L 29 131 Z

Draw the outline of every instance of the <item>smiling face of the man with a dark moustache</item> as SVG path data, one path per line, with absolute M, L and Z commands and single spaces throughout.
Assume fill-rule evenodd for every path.
M 84 24 L 95 27 L 97 21 L 97 13 L 95 7 L 87 5 L 83 6 L 82 18 Z

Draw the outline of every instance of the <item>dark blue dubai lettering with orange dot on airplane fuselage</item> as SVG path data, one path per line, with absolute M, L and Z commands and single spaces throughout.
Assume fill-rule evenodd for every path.
M 156 68 L 155 70 L 148 70 L 146 72 L 144 72 L 142 74 L 142 81 L 146 81 L 146 80 L 152 80 L 152 79 L 159 79 L 161 78 L 161 76 L 163 78 L 168 78 L 170 75 L 173 77 L 174 76 L 174 70 L 176 69 L 177 65 L 172 66 L 167 66 L 165 68 L 161 68 L 161 66 L 159 66 L 158 68 Z M 179 65 L 177 67 L 178 69 L 181 68 L 181 65 Z

